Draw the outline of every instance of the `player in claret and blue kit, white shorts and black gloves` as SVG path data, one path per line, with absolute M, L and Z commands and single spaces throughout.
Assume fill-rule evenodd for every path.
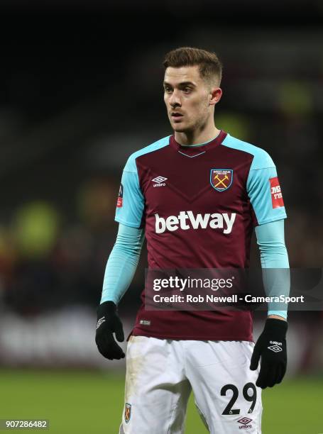
M 124 340 L 117 306 L 145 237 L 149 269 L 244 269 L 255 228 L 263 269 L 289 267 L 273 160 L 214 123 L 222 96 L 219 58 L 177 48 L 163 65 L 173 134 L 130 155 L 122 174 L 119 230 L 97 311 L 96 343 L 109 360 L 125 356 L 116 343 Z M 230 230 L 200 224 L 212 213 Z M 163 230 L 160 221 L 168 222 Z M 280 286 L 288 294 L 289 280 Z M 251 311 L 148 311 L 144 294 L 142 301 L 128 338 L 119 433 L 184 433 L 191 391 L 210 433 L 261 433 L 261 390 L 280 383 L 286 370 L 287 312 L 269 306 L 255 344 Z

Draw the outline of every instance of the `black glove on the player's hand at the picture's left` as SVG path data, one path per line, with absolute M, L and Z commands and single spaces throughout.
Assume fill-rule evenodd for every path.
M 95 335 L 95 342 L 99 352 L 106 357 L 106 359 L 123 359 L 124 352 L 121 347 L 114 340 L 124 342 L 124 330 L 122 328 L 121 320 L 116 313 L 116 305 L 113 301 L 104 301 L 97 308 L 97 334 Z

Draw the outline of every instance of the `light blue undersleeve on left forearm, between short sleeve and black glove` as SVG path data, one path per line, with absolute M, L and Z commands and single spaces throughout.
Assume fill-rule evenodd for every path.
M 144 236 L 143 229 L 119 224 L 116 243 L 106 263 L 101 304 L 104 301 L 119 304 L 136 272 Z

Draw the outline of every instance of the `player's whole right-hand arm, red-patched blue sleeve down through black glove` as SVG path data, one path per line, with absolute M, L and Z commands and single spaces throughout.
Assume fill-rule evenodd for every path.
M 286 218 L 286 213 L 277 171 L 267 152 L 255 152 L 246 187 L 261 251 L 265 291 L 270 295 L 287 294 L 290 284 L 283 235 L 283 219 Z M 278 311 L 274 306 L 269 306 L 263 333 L 253 348 L 250 369 L 255 371 L 261 359 L 256 386 L 262 389 L 280 383 L 285 375 L 288 328 L 286 317 L 286 310 Z

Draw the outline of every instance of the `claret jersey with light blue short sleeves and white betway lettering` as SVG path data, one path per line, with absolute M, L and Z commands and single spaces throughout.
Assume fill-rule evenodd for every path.
M 248 268 L 254 226 L 285 218 L 273 160 L 221 130 L 201 146 L 171 135 L 126 162 L 116 221 L 144 228 L 148 268 Z M 250 311 L 138 311 L 133 335 L 252 340 Z

